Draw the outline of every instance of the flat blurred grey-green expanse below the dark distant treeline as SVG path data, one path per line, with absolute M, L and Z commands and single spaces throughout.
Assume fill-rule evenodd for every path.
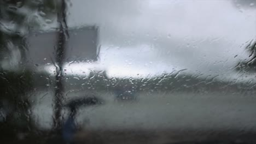
M 70 92 L 73 99 L 84 92 Z M 137 93 L 136 100 L 117 101 L 108 92 L 96 93 L 99 106 L 78 110 L 77 122 L 89 130 L 255 130 L 256 96 L 242 93 Z M 52 121 L 53 93 L 37 94 L 33 116 L 40 128 Z M 67 111 L 63 112 L 67 115 Z

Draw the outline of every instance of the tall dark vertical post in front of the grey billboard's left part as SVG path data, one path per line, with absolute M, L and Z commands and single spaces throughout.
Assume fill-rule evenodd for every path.
M 68 27 L 66 22 L 66 3 L 65 0 L 61 0 L 60 10 L 57 13 L 57 21 L 59 23 L 59 32 L 56 44 L 56 83 L 55 83 L 55 98 L 54 98 L 54 129 L 61 129 L 61 109 L 63 93 L 65 91 L 63 86 L 63 63 L 65 58 L 66 40 L 68 38 Z

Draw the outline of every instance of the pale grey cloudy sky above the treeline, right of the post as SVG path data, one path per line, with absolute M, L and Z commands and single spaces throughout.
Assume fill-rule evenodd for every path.
M 256 35 L 256 9 L 232 1 L 72 1 L 68 25 L 100 27 L 110 75 L 188 69 L 224 74 Z M 238 55 L 236 58 L 234 58 Z

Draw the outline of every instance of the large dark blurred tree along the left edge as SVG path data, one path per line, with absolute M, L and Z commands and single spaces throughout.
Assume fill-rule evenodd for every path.
M 27 92 L 32 89 L 32 71 L 26 66 L 25 35 L 56 19 L 60 4 L 60 0 L 0 0 L 0 105 L 8 101 L 11 107 L 5 118 L 8 130 L 31 128 Z

